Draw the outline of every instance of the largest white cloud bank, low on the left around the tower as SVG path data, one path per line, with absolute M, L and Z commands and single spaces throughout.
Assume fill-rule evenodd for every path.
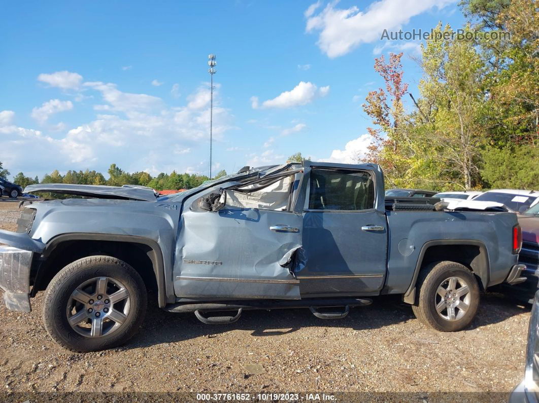
M 42 175 L 52 169 L 106 171 L 111 162 L 128 171 L 147 168 L 158 172 L 173 169 L 184 172 L 189 164 L 178 164 L 188 161 L 197 146 L 203 145 L 205 150 L 209 140 L 210 111 L 207 103 L 198 102 L 204 98 L 200 93 L 208 90 L 204 85 L 189 96 L 187 105 L 175 108 L 167 107 L 158 97 L 124 93 L 113 83 L 89 82 L 84 83 L 84 88 L 88 93 L 96 91 L 100 102 L 95 105 L 96 109 L 106 112 L 98 112 L 91 121 L 67 132 L 61 124 L 47 126 L 51 133 L 60 130 L 54 136 L 13 125 L 13 112 L 0 112 L 0 149 L 6 155 L 2 159 L 5 166 L 15 172 L 33 172 L 33 175 Z M 227 130 L 233 128 L 233 116 L 229 109 L 220 105 L 218 89 L 214 91 L 214 101 L 213 139 L 217 143 Z M 34 108 L 34 117 L 46 121 L 50 112 L 70 108 L 61 102 L 64 101 L 51 100 Z M 31 164 L 24 155 L 32 155 Z M 51 155 L 56 157 L 51 158 Z M 199 160 L 207 166 L 204 159 Z M 22 161 L 25 161 L 24 165 Z

